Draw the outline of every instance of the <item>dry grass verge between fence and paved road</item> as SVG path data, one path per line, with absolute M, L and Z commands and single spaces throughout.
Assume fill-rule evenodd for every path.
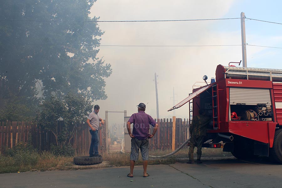
M 196 149 L 195 149 L 196 150 Z M 149 151 L 149 155 L 159 156 L 170 153 L 166 151 Z M 196 152 L 196 151 L 195 151 Z M 196 157 L 196 153 L 194 154 Z M 222 149 L 202 149 L 202 157 L 230 157 L 232 154 L 223 152 Z M 173 164 L 180 162 L 181 158 L 188 157 L 188 149 L 182 149 L 176 154 L 162 159 L 149 159 L 149 165 Z M 105 168 L 111 166 L 129 166 L 129 153 L 109 153 L 103 154 L 103 163 L 98 165 L 79 166 L 73 163 L 73 157 L 55 156 L 50 152 L 20 151 L 13 155 L 0 155 L 0 173 L 14 173 L 26 171 L 46 171 L 46 170 L 77 170 L 89 168 Z M 142 157 L 135 162 L 136 165 L 142 165 Z

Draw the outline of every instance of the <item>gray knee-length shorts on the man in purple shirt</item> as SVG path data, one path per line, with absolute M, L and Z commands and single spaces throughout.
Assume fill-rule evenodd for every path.
M 131 138 L 131 153 L 130 160 L 138 160 L 139 157 L 139 148 L 141 150 L 141 155 L 143 160 L 149 159 L 149 138 L 145 140 L 138 140 L 137 138 Z

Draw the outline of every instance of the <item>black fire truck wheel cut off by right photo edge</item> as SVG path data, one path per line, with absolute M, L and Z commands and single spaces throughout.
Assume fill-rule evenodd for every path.
M 270 158 L 282 163 L 282 129 L 275 131 L 273 147 L 270 148 Z

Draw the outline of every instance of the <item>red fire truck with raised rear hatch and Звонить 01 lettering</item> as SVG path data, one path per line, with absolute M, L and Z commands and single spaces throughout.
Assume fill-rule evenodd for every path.
M 212 121 L 204 147 L 223 146 L 238 159 L 268 156 L 282 163 L 282 69 L 218 65 L 212 82 L 168 111 L 188 102 L 189 116 L 205 109 Z

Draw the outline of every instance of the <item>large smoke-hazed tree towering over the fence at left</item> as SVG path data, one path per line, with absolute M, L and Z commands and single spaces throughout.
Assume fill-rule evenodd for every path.
M 107 98 L 104 78 L 112 69 L 97 58 L 103 32 L 93 22 L 99 18 L 89 17 L 95 2 L 1 1 L 0 108 L 13 97 L 34 101 L 39 92 L 44 99 Z

